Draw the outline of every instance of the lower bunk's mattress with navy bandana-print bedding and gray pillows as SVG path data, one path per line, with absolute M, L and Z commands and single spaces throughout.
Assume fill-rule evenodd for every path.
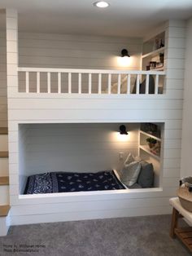
M 95 173 L 60 171 L 30 175 L 24 194 L 152 188 L 153 184 L 153 165 L 142 160 L 135 161 L 129 154 L 122 170 Z

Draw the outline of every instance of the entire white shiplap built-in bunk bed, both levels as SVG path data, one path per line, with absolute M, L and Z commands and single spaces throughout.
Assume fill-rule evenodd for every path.
M 13 15 L 14 12 L 11 11 L 8 17 L 13 18 Z M 14 19 L 15 29 L 12 26 Z M 180 23 L 177 22 L 165 24 L 164 29 L 160 29 L 160 31 L 165 30 L 166 33 L 166 37 L 164 36 L 165 46 L 154 48 L 157 41 L 157 37 L 154 35 L 152 42 L 150 39 L 150 47 L 146 46 L 145 51 L 142 49 L 133 51 L 133 54 L 137 55 L 139 59 L 139 64 L 120 70 L 120 67 L 115 64 L 111 65 L 111 62 L 108 62 L 107 65 L 94 64 L 91 66 L 89 63 L 68 65 L 68 59 L 63 58 L 63 63 L 51 64 L 47 61 L 50 59 L 46 57 L 45 61 L 41 62 L 39 61 L 41 60 L 41 49 L 38 50 L 39 55 L 36 52 L 37 58 L 27 62 L 24 58 L 27 47 L 22 52 L 22 47 L 25 46 L 25 44 L 22 46 L 23 42 L 19 42 L 20 52 L 17 47 L 12 49 L 13 45 L 18 45 L 16 14 L 14 19 L 7 19 L 11 224 L 168 214 L 170 212 L 168 196 L 172 196 L 176 191 L 175 180 L 178 177 L 177 170 L 180 161 L 178 148 L 181 147 L 179 130 L 181 130 L 183 99 L 180 84 L 183 79 L 183 69 L 181 69 L 183 54 L 181 52 L 185 48 L 182 45 L 185 40 L 181 41 L 181 38 L 185 26 L 180 26 Z M 28 36 L 28 41 L 33 45 L 31 36 Z M 35 35 L 35 37 L 38 36 Z M 55 37 L 56 35 L 53 38 Z M 47 40 L 49 39 L 44 38 L 41 42 L 44 44 Z M 60 36 L 59 41 L 59 45 L 62 45 L 63 41 L 60 40 Z M 54 40 L 50 41 L 50 44 L 52 43 Z M 69 43 L 68 41 L 68 45 Z M 126 43 L 126 46 L 129 47 L 129 42 Z M 30 51 L 30 48 L 28 49 Z M 58 44 L 55 44 L 55 49 L 57 56 L 60 57 L 59 51 L 62 52 L 62 50 Z M 176 53 L 173 53 L 172 49 L 176 49 Z M 46 52 L 48 51 L 49 49 Z M 118 55 L 117 51 L 110 50 L 109 52 L 111 52 L 111 59 L 114 55 Z M 176 56 L 177 52 L 179 52 L 179 56 Z M 30 54 L 33 55 L 32 52 Z M 152 65 L 155 62 L 159 63 L 159 60 L 156 60 L 159 55 L 164 56 L 165 61 L 164 63 L 160 61 L 162 66 L 154 68 Z M 18 60 L 18 56 L 20 60 Z M 55 59 L 57 60 L 57 58 Z M 80 59 L 79 61 L 81 62 Z M 154 69 L 146 70 L 146 66 Z M 103 69 L 89 69 L 99 67 Z M 98 159 L 94 161 L 94 153 L 89 157 L 93 159 L 93 162 L 87 166 L 78 165 L 79 161 L 76 161 L 76 158 L 81 156 L 86 163 L 85 152 L 83 152 L 84 155 L 82 153 L 74 154 L 68 161 L 71 164 L 71 168 L 68 168 L 66 162 L 63 161 L 65 152 L 63 148 L 59 148 L 59 140 L 62 136 L 55 139 L 55 148 L 59 148 L 60 152 L 59 150 L 48 152 L 50 148 L 47 145 L 42 148 L 32 148 L 28 143 L 32 126 L 35 126 L 34 130 L 31 129 L 33 135 L 37 135 L 40 128 L 42 128 L 41 134 L 47 131 L 46 125 L 58 127 L 68 124 L 74 126 L 84 124 L 86 126 L 89 123 L 93 125 L 107 123 L 119 126 L 124 123 L 135 123 L 139 126 L 142 122 L 161 123 L 162 135 L 159 138 L 149 133 L 149 130 L 138 129 L 135 137 L 139 138 L 135 143 L 137 148 L 124 150 L 124 160 L 129 152 L 132 152 L 134 156 L 141 157 L 141 159 L 134 158 L 135 164 L 133 164 L 134 161 L 128 164 L 129 170 L 134 165 L 140 166 L 140 169 L 138 167 L 132 172 L 135 174 L 133 175 L 134 180 L 129 179 L 129 182 L 133 181 L 132 184 L 126 183 L 126 161 L 122 168 L 116 168 L 121 148 L 111 155 L 111 158 L 114 158 L 111 161 L 107 158 L 107 152 L 103 156 L 100 153 L 99 156 L 102 156 L 100 166 Z M 82 130 L 77 132 L 83 134 Z M 53 136 L 56 136 L 56 131 L 57 129 L 54 128 Z M 38 133 L 36 141 L 41 138 L 41 134 Z M 85 132 L 83 135 L 83 139 L 86 139 Z M 34 136 L 31 136 L 31 140 L 33 138 Z M 161 143 L 160 154 L 154 152 L 154 148 L 148 147 L 146 139 L 149 138 L 155 139 L 157 144 Z M 81 152 L 81 147 L 79 151 Z M 89 148 L 86 152 L 89 152 Z M 72 155 L 72 150 L 68 153 Z M 32 155 L 33 159 L 30 159 L 30 162 L 24 162 L 28 160 L 29 155 Z M 104 157 L 107 158 L 107 165 L 103 165 Z M 58 165 L 55 166 L 55 163 Z M 90 166 L 95 166 L 95 169 L 92 170 L 93 168 L 89 168 Z M 148 169 L 152 171 L 148 172 Z M 89 170 L 89 176 L 91 174 L 97 176 L 101 174 L 97 171 L 104 171 L 102 175 L 107 174 L 108 177 L 111 177 L 109 179 L 116 184 L 116 187 L 109 187 L 110 190 L 102 188 L 101 191 L 93 189 L 89 192 L 84 190 L 71 192 L 72 188 L 69 188 L 70 192 L 59 191 L 59 189 L 65 189 L 61 188 L 63 186 L 61 180 L 64 181 L 72 175 L 87 177 L 88 172 L 85 174 L 84 170 Z M 146 173 L 149 173 L 149 179 L 146 179 Z M 38 174 L 39 176 L 37 176 Z M 50 177 L 55 177 L 55 179 L 50 181 Z M 76 179 L 79 177 L 76 176 Z M 78 181 L 76 180 L 76 182 Z M 42 187 L 42 183 L 45 184 L 45 188 Z M 39 184 L 40 187 L 38 187 Z M 51 190 L 51 186 L 58 190 Z

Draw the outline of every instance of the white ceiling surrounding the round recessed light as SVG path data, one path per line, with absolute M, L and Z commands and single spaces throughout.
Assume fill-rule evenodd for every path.
M 97 0 L 95 0 L 97 1 Z M 0 8 L 19 12 L 20 31 L 143 37 L 169 19 L 192 16 L 192 0 L 0 0 Z

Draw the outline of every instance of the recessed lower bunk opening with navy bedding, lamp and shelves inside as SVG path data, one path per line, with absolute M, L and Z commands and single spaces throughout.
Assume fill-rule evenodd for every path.
M 160 188 L 163 141 L 164 123 L 20 124 L 20 195 Z

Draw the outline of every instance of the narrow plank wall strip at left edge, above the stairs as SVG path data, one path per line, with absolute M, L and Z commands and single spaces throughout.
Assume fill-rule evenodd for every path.
M 6 13 L 0 11 L 0 127 L 7 127 Z

